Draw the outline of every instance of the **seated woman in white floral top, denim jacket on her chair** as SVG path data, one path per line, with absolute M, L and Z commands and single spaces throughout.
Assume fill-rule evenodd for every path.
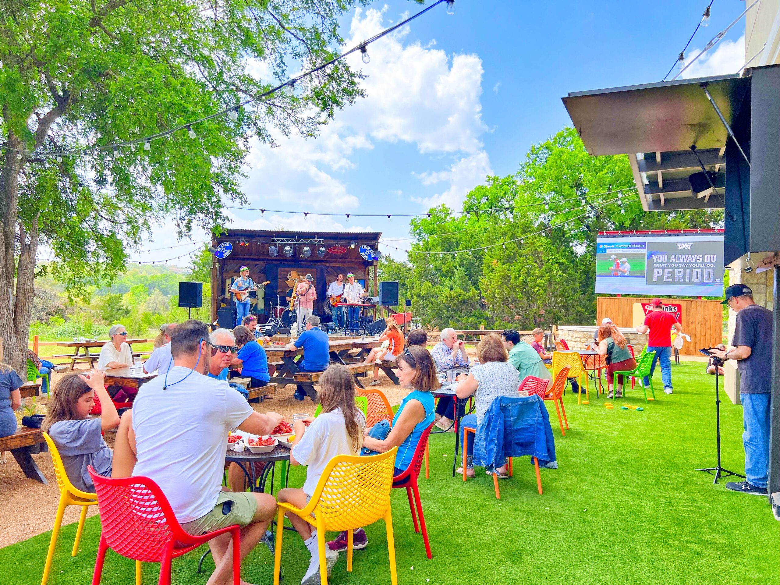
M 475 413 L 467 414 L 461 420 L 461 442 L 464 445 L 463 427 L 477 428 L 494 399 L 500 396 L 519 398 L 517 392 L 520 385 L 519 374 L 517 368 L 507 361 L 506 349 L 498 335 L 491 334 L 482 338 L 477 346 L 477 357 L 480 365 L 471 368 L 468 377 L 461 374 L 458 378 L 459 384 L 455 388 L 459 399 L 473 395 L 474 401 L 477 402 Z M 468 445 L 466 445 L 466 475 L 469 477 L 474 475 L 473 452 L 474 435 L 469 434 Z M 509 477 L 506 466 L 499 467 L 496 472 L 502 479 Z M 456 473 L 463 473 L 463 468 Z

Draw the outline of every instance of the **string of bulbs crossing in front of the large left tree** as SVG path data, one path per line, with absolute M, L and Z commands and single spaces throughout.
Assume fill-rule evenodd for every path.
M 317 67 L 314 67 L 313 69 L 309 69 L 308 71 L 306 71 L 304 73 L 301 73 L 300 75 L 296 76 L 296 78 L 294 78 L 291 81 L 293 83 L 295 83 L 297 80 L 303 79 L 304 77 L 312 76 L 312 75 L 314 75 L 314 73 L 318 73 L 321 70 L 326 69 L 326 68 L 332 66 L 336 62 L 339 62 L 343 58 L 346 58 L 347 56 L 352 55 L 356 51 L 360 51 L 361 57 L 363 58 L 363 62 L 364 63 L 369 62 L 370 58 L 368 56 L 367 45 L 373 43 L 374 41 L 378 41 L 381 37 L 385 37 L 386 35 L 392 33 L 394 30 L 397 30 L 397 29 L 399 29 L 401 27 L 406 26 L 407 23 L 410 23 L 412 20 L 415 20 L 416 18 L 424 15 L 426 12 L 428 12 L 431 9 L 433 9 L 435 6 L 441 4 L 442 2 L 447 2 L 447 4 L 448 4 L 448 12 L 449 12 L 449 9 L 450 9 L 450 6 L 449 6 L 450 4 L 452 4 L 452 8 L 454 9 L 454 2 L 453 2 L 453 0 L 437 0 L 437 2 L 434 2 L 433 4 L 428 6 L 427 8 L 424 8 L 424 9 L 420 10 L 420 12 L 416 12 L 415 14 L 410 16 L 409 18 L 406 18 L 404 20 L 400 20 L 398 23 L 395 23 L 392 27 L 388 27 L 385 30 L 381 30 L 378 34 L 375 34 L 373 37 L 367 39 L 366 41 L 363 41 L 362 43 L 360 43 L 356 47 L 353 47 L 353 48 L 349 49 L 348 51 L 344 51 L 343 53 L 341 53 L 340 55 L 336 55 L 334 58 L 330 59 L 329 61 L 324 62 L 321 65 L 319 65 Z M 252 104 L 252 103 L 254 103 L 256 101 L 261 101 L 264 97 L 268 97 L 268 96 L 270 96 L 272 94 L 275 94 L 276 92 L 278 92 L 279 90 L 282 90 L 283 87 L 286 87 L 289 84 L 290 84 L 290 80 L 285 81 L 284 83 L 280 83 L 278 86 L 272 87 L 271 89 L 266 90 L 266 91 L 262 92 L 261 94 L 255 94 L 255 95 L 252 95 L 252 96 L 246 98 L 246 100 L 240 102 L 238 105 L 231 106 L 229 108 L 225 108 L 225 109 L 223 109 L 223 110 L 221 110 L 219 112 L 215 112 L 215 113 L 210 114 L 210 115 L 206 115 L 203 118 L 193 120 L 192 122 L 187 122 L 186 124 L 182 124 L 182 125 L 176 126 L 174 128 L 163 130 L 162 132 L 153 134 L 153 135 L 148 136 L 148 137 L 143 137 L 143 138 L 139 138 L 139 139 L 135 139 L 135 140 L 127 140 L 126 142 L 119 142 L 119 143 L 115 143 L 115 144 L 103 144 L 103 145 L 99 145 L 99 146 L 97 146 L 97 145 L 96 146 L 90 146 L 90 147 L 83 148 L 81 150 L 61 151 L 61 152 L 62 152 L 62 154 L 81 154 L 81 153 L 84 153 L 84 152 L 87 152 L 87 151 L 111 151 L 113 148 L 116 148 L 116 147 L 132 147 L 133 144 L 140 144 L 142 142 L 146 142 L 146 141 L 149 141 L 149 140 L 157 140 L 157 139 L 160 139 L 160 138 L 166 138 L 166 139 L 170 140 L 172 133 L 175 133 L 175 132 L 179 131 L 180 129 L 186 129 L 187 133 L 190 134 L 190 138 L 194 138 L 194 136 L 193 136 L 194 132 L 190 133 L 191 130 L 192 130 L 191 126 L 194 126 L 195 124 L 200 124 L 201 122 L 207 122 L 208 120 L 218 118 L 219 116 L 222 116 L 222 115 L 229 115 L 230 112 L 234 112 L 238 108 L 241 108 L 244 105 L 249 105 L 249 104 Z M 34 152 L 34 151 L 27 150 L 27 149 L 20 149 L 20 148 L 15 148 L 15 147 L 9 147 L 8 145 L 5 145 L 5 147 L 9 148 L 9 150 L 18 151 L 19 153 L 32 154 Z M 54 153 L 52 153 L 52 152 L 41 152 L 41 153 L 38 153 L 37 155 L 41 156 L 41 157 L 46 157 L 46 156 L 52 156 L 53 154 Z M 21 158 L 21 154 L 17 158 Z

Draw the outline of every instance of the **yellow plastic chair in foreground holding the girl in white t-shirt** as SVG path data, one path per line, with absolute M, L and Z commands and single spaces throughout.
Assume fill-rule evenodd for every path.
M 325 532 L 346 530 L 346 570 L 352 571 L 353 530 L 385 519 L 390 556 L 390 582 L 398 585 L 395 572 L 395 543 L 392 536 L 392 489 L 394 447 L 386 453 L 369 457 L 340 455 L 330 461 L 322 472 L 317 488 L 303 509 L 279 502 L 276 519 L 276 546 L 274 555 L 274 585 L 279 585 L 282 570 L 282 535 L 285 512 L 300 516 L 317 529 L 317 548 L 320 551 L 320 580 L 328 585 L 328 567 L 325 564 Z

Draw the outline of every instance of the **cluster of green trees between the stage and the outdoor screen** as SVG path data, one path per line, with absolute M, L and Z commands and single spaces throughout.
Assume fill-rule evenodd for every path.
M 645 213 L 628 159 L 591 157 L 572 128 L 532 146 L 515 175 L 475 187 L 465 213 L 449 211 L 411 222 L 407 287 L 415 317 L 438 327 L 591 323 L 598 232 L 722 223 L 722 211 Z

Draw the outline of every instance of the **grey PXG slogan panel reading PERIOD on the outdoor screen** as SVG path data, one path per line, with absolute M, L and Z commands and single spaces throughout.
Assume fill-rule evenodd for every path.
M 647 243 L 647 284 L 718 285 L 723 281 L 723 257 L 707 242 Z

